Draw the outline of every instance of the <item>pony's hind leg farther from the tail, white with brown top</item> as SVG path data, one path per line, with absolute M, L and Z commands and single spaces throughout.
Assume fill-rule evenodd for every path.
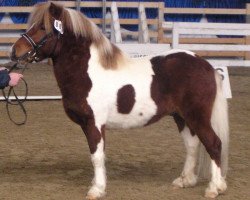
M 184 120 L 182 120 L 179 116 L 174 116 L 174 119 L 183 137 L 187 155 L 181 176 L 173 181 L 173 186 L 177 188 L 192 187 L 197 183 L 195 166 L 200 142 L 196 135 L 191 134 L 190 129 L 187 125 L 185 125 Z

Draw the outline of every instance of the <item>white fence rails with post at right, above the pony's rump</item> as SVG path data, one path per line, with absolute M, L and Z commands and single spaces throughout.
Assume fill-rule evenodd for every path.
M 174 49 L 186 49 L 191 51 L 250 51 L 250 45 L 246 44 L 180 44 L 181 35 L 230 35 L 250 36 L 249 24 L 226 23 L 163 23 L 163 27 L 172 27 L 172 47 Z

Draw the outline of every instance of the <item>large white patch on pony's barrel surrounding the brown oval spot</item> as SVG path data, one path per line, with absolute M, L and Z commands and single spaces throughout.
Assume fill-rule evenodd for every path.
M 157 106 L 151 98 L 153 69 L 148 58 L 127 59 L 118 69 L 104 69 L 94 45 L 90 47 L 88 74 L 92 88 L 87 98 L 96 126 L 107 128 L 133 128 L 145 124 L 156 114 Z M 135 104 L 129 114 L 117 109 L 117 93 L 120 88 L 131 84 L 135 90 Z

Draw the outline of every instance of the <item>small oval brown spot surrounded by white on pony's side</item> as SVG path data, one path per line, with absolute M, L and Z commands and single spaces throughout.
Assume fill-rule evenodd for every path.
M 117 92 L 117 111 L 129 114 L 135 104 L 135 89 L 132 85 L 125 85 Z

